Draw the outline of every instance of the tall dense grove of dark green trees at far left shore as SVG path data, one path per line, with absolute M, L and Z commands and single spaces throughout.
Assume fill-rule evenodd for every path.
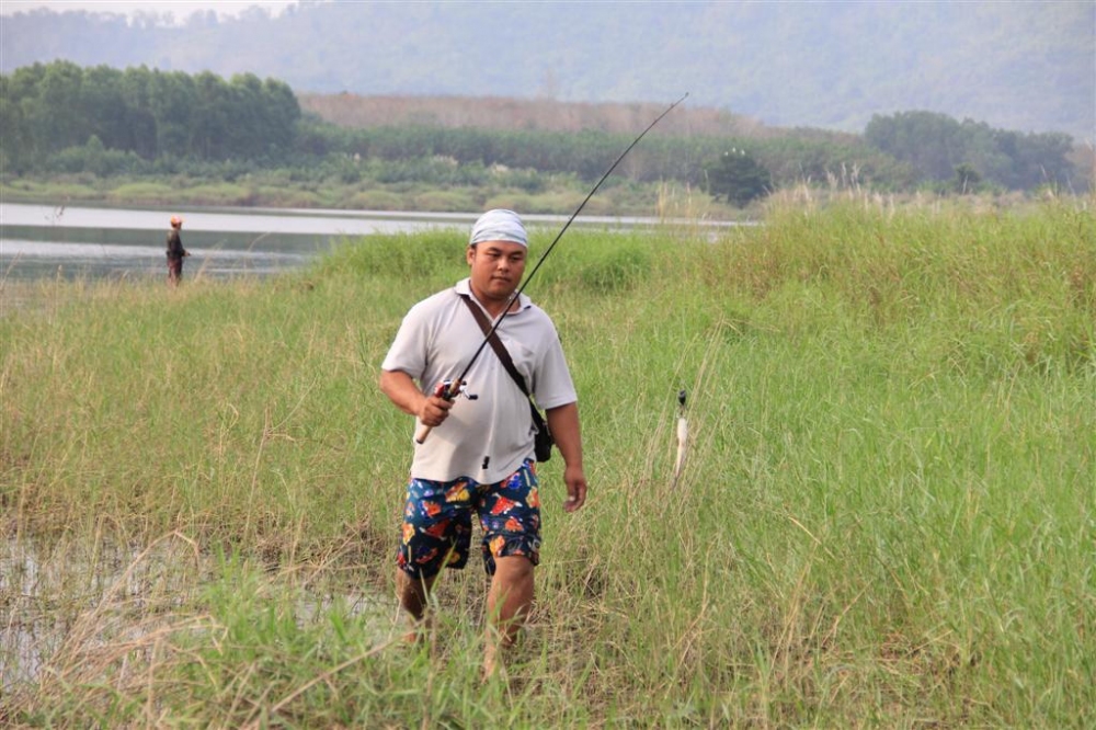
M 89 142 L 145 161 L 276 162 L 292 148 L 301 115 L 282 81 L 145 66 L 35 64 L 0 76 L 0 94 L 2 161 L 14 171 L 48 169 L 50 157 Z

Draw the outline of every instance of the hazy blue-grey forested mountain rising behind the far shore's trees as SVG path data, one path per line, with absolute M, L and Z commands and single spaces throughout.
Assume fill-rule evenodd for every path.
M 298 93 L 555 99 L 717 109 L 863 132 L 928 111 L 1096 137 L 1096 3 L 302 2 L 164 24 L 35 12 L 0 27 L 4 72 L 35 61 L 254 73 Z

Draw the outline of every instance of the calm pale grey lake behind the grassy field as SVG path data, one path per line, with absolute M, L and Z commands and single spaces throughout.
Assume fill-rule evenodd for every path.
M 453 228 L 456 243 L 463 241 L 479 214 L 165 210 L 0 203 L 0 281 L 163 277 L 164 237 L 172 215 L 183 218 L 183 246 L 191 252 L 184 278 L 227 278 L 265 276 L 299 267 L 347 237 Z M 556 230 L 567 220 L 566 216 L 548 215 L 523 218 L 530 228 Z M 653 218 L 580 216 L 574 225 L 628 229 L 658 223 Z

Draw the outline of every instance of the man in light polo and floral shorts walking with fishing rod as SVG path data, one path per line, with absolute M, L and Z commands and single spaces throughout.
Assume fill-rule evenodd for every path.
M 514 294 L 528 253 L 525 227 L 512 210 L 489 210 L 472 226 L 465 252 L 470 276 L 420 301 L 404 317 L 381 365 L 380 388 L 400 410 L 432 429 L 414 448 L 397 555 L 397 592 L 421 628 L 427 596 L 443 567 L 465 567 L 471 514 L 483 531 L 481 554 L 491 575 L 483 670 L 491 676 L 500 649 L 514 642 L 534 597 L 540 559 L 540 499 L 528 398 L 493 351 L 466 376 L 471 398 L 436 395 L 457 377 L 483 341 L 469 309 L 494 322 L 526 388 L 547 413 L 563 457 L 567 502 L 586 500 L 576 395 L 551 319 Z

